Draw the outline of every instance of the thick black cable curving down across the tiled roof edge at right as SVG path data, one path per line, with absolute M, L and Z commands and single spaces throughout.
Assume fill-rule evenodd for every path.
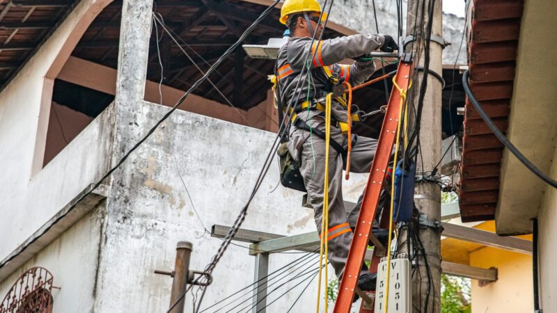
M 485 113 L 485 111 L 483 111 L 482 106 L 480 105 L 480 103 L 478 102 L 478 100 L 476 99 L 474 94 L 472 93 L 472 90 L 470 89 L 470 85 L 468 83 L 469 75 L 470 75 L 470 73 L 467 70 L 466 70 L 466 72 L 464 72 L 464 75 L 462 75 L 462 86 L 464 87 L 464 92 L 468 96 L 468 99 L 470 100 L 470 102 L 472 103 L 472 105 L 474 106 L 476 111 L 478 111 L 478 113 L 482 117 L 485 124 L 487 124 L 487 127 L 489 127 L 489 129 L 492 130 L 493 134 L 497 137 L 497 139 L 499 139 L 499 141 L 501 141 L 501 143 L 503 143 L 503 145 L 505 145 L 505 147 L 512 154 L 514 154 L 515 157 L 517 157 L 517 159 L 522 164 L 524 164 L 524 166 L 526 166 L 526 168 L 528 168 L 528 170 L 531 170 L 531 172 L 533 172 L 536 176 L 540 177 L 540 179 L 542 179 L 544 182 L 549 184 L 549 186 L 557 188 L 557 181 L 555 179 L 552 179 L 551 177 L 545 175 L 544 172 L 542 172 L 539 168 L 537 168 L 530 160 L 526 159 L 526 157 L 524 157 L 524 154 L 522 154 L 520 152 L 520 150 L 518 150 L 517 147 L 515 147 L 515 145 L 513 145 L 507 139 L 507 137 L 505 137 L 505 135 L 503 135 L 503 133 L 499 130 L 499 128 L 497 128 L 495 126 L 493 120 L 491 118 L 489 118 L 489 115 L 487 115 L 487 113 Z

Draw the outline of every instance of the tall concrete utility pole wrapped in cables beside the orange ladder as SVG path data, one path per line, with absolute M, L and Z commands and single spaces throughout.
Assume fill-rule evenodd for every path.
M 443 45 L 434 38 L 443 38 L 442 31 L 442 10 L 441 0 L 434 1 L 434 13 L 432 16 L 432 40 L 430 43 L 430 71 L 441 74 L 441 51 Z M 422 16 L 421 8 L 425 2 L 425 10 Z M 424 38 L 417 38 L 418 40 L 425 40 L 427 33 L 427 20 L 430 18 L 427 14 L 429 8 L 429 1 L 427 0 L 408 0 L 408 13 L 407 13 L 407 35 L 412 35 L 414 24 L 417 27 L 423 27 Z M 418 10 L 416 10 L 418 8 Z M 418 16 L 416 16 L 418 15 Z M 419 31 L 418 31 L 419 33 Z M 414 47 L 418 46 L 418 42 L 414 41 Z M 411 44 L 407 45 L 407 49 L 412 47 Z M 425 43 L 421 45 L 421 51 L 416 51 L 421 56 L 416 63 L 416 67 L 423 67 Z M 418 79 L 412 82 L 413 93 L 411 99 L 414 99 L 414 104 L 418 102 L 418 94 L 423 77 L 423 71 L 418 72 Z M 423 175 L 423 172 L 430 171 L 437 164 L 441 158 L 441 82 L 432 74 L 427 77 L 427 92 L 423 102 L 423 111 L 421 116 L 421 133 L 420 133 L 421 151 L 418 155 L 418 164 L 416 164 L 416 174 Z M 423 161 L 422 161 L 423 160 Z M 422 163 L 423 162 L 423 163 Z M 441 218 L 441 190 L 438 184 L 432 182 L 416 183 L 414 199 L 416 206 L 421 214 L 427 216 L 424 224 L 431 226 L 421 225 L 419 230 L 419 237 L 423 242 L 425 252 L 427 254 L 427 262 L 430 266 L 432 276 L 432 284 L 430 286 L 429 300 L 426 306 L 426 292 L 427 292 L 427 271 L 423 258 L 418 259 L 418 269 L 414 274 L 412 280 L 412 303 L 414 307 L 420 307 L 419 311 L 414 309 L 414 312 L 421 313 L 438 313 L 440 311 L 440 275 L 441 275 L 441 231 L 439 227 L 432 227 L 431 222 L 437 222 Z M 406 234 L 402 234 L 401 241 L 405 241 Z M 405 245 L 402 247 L 406 248 Z M 405 251 L 407 252 L 407 251 Z M 419 272 L 418 272 L 419 271 Z

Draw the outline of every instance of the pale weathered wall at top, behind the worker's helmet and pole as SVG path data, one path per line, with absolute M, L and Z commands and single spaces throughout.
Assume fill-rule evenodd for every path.
M 454 1 L 454 0 L 453 0 Z M 324 3 L 324 0 L 320 0 Z M 330 2 L 329 2 L 330 3 Z M 406 34 L 406 8 L 407 0 L 402 1 L 403 19 L 402 27 Z M 327 5 L 327 8 L 329 6 Z M 391 0 L 375 0 L 377 24 L 379 33 L 396 36 L 397 33 L 397 7 Z M 331 10 L 331 21 L 350 27 L 360 33 L 376 33 L 373 3 L 369 0 L 336 1 Z M 443 38 L 453 45 L 443 51 L 443 64 L 454 64 L 464 31 L 464 18 L 452 14 L 443 14 Z M 464 42 L 457 64 L 466 63 L 466 42 Z

